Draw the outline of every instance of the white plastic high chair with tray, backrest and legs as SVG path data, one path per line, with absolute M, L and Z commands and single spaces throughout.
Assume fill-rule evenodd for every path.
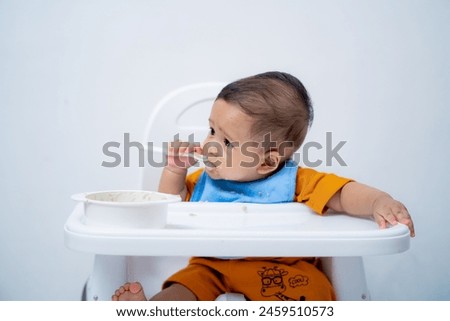
M 197 84 L 167 95 L 150 117 L 144 145 L 161 147 L 176 134 L 181 140 L 201 142 L 223 85 Z M 159 157 L 154 161 L 162 161 L 160 149 L 155 150 Z M 161 171 L 161 166 L 145 166 L 141 188 L 156 191 Z M 85 300 L 110 300 L 116 288 L 135 280 L 152 296 L 191 256 L 321 257 L 338 300 L 369 300 L 362 257 L 406 251 L 410 239 L 402 224 L 381 230 L 368 219 L 320 216 L 296 203 L 174 203 L 169 205 L 167 227 L 159 230 L 89 226 L 83 215 L 78 204 L 64 229 L 67 247 L 95 254 Z M 243 296 L 218 298 L 236 299 Z

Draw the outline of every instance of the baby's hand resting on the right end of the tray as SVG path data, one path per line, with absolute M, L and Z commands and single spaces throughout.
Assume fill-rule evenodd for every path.
M 373 217 L 381 228 L 387 224 L 402 223 L 408 226 L 411 237 L 414 237 L 414 224 L 406 207 L 390 196 L 380 196 L 373 203 Z

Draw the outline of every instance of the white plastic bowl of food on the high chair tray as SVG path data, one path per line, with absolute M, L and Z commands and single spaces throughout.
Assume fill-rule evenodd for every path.
M 80 193 L 72 199 L 84 204 L 85 223 L 121 228 L 164 228 L 169 203 L 180 196 L 152 191 L 113 190 Z

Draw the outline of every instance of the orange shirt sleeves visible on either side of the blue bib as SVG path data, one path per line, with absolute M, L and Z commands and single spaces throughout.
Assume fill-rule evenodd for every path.
M 198 169 L 186 178 L 186 201 L 191 199 L 195 184 L 202 173 L 203 169 Z M 292 201 L 305 203 L 319 214 L 326 212 L 326 204 L 330 198 L 351 181 L 351 179 L 334 174 L 321 173 L 314 169 L 301 167 L 297 170 L 296 179 L 295 197 Z

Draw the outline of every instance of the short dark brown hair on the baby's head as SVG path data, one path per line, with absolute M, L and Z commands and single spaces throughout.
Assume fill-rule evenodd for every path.
M 303 143 L 314 112 L 309 94 L 296 77 L 271 71 L 239 79 L 225 86 L 216 99 L 238 106 L 254 119 L 251 135 L 270 134 L 277 147 L 292 146 L 290 157 Z

